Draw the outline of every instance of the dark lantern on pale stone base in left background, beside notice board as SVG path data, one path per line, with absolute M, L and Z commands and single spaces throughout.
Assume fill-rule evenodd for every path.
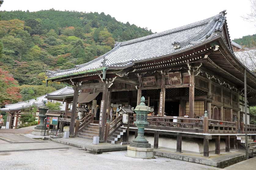
M 49 109 L 48 106 L 45 105 L 45 101 L 43 103 L 42 106 L 40 106 L 39 108 L 39 119 L 40 119 L 40 123 L 35 127 L 35 129 L 33 129 L 32 134 L 33 135 L 44 135 L 45 132 L 45 124 L 44 124 L 44 119 L 46 118 L 46 112 Z M 47 121 L 47 120 L 46 120 Z M 46 135 L 49 134 L 49 130 L 46 130 Z

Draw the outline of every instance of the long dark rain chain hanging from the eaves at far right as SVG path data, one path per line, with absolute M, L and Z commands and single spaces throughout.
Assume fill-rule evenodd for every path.
M 248 155 L 248 135 L 247 135 L 247 75 L 246 69 L 244 69 L 244 132 L 245 132 L 245 154 L 246 158 L 249 159 Z

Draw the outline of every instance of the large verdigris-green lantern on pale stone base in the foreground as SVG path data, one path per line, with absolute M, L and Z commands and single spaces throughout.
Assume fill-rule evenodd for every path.
M 154 109 L 150 109 L 150 107 L 145 105 L 145 98 L 141 97 L 140 105 L 136 106 L 136 108 L 132 108 L 134 112 L 136 112 L 136 121 L 134 124 L 138 127 L 138 136 L 130 143 L 130 146 L 127 146 L 127 154 L 126 156 L 133 158 L 154 158 L 153 157 L 153 148 L 151 148 L 151 144 L 148 143 L 146 138 L 144 137 L 144 128 L 149 124 L 148 123 L 148 113 L 153 112 Z

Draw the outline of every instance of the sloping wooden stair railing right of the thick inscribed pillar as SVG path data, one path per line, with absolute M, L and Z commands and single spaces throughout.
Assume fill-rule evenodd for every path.
M 117 116 L 117 118 L 115 118 L 111 123 L 107 122 L 105 126 L 104 140 L 107 141 L 108 137 L 115 133 L 115 131 L 121 126 L 123 126 L 123 116 Z

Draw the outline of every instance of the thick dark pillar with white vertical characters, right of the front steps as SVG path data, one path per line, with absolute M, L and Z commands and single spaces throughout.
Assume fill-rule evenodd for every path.
M 104 142 L 104 133 L 105 133 L 105 124 L 106 124 L 106 108 L 107 108 L 107 101 L 108 101 L 108 86 L 106 83 L 103 84 L 103 93 L 102 93 L 102 100 L 104 100 L 104 106 L 103 106 L 103 114 L 102 114 L 102 126 L 100 126 L 99 130 L 99 137 L 100 137 L 100 142 Z M 102 109 L 102 108 L 100 108 Z M 100 116 L 101 117 L 101 116 Z

